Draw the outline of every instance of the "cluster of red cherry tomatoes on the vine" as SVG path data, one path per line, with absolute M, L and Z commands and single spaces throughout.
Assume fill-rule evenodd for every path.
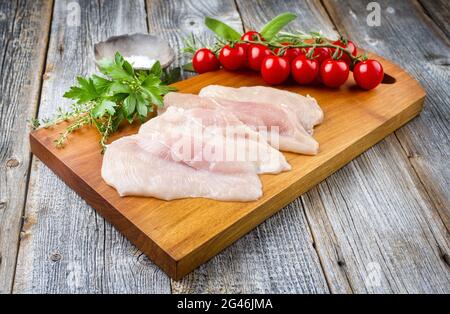
M 255 31 L 245 33 L 241 39 L 264 41 L 261 34 Z M 348 49 L 354 57 L 358 54 L 351 41 L 344 43 L 338 40 L 333 44 Z M 289 43 L 282 45 L 289 46 Z M 338 88 L 348 80 L 352 60 L 346 53 L 333 59 L 335 48 L 317 47 L 309 53 L 310 49 L 277 48 L 272 51 L 262 44 L 238 43 L 224 46 L 218 58 L 207 48 L 199 49 L 192 64 L 197 73 L 215 71 L 221 65 L 228 71 L 249 68 L 260 71 L 263 80 L 270 85 L 282 84 L 289 76 L 300 85 L 321 82 L 330 88 Z M 361 61 L 355 65 L 353 77 L 359 87 L 370 90 L 383 80 L 383 67 L 376 60 Z

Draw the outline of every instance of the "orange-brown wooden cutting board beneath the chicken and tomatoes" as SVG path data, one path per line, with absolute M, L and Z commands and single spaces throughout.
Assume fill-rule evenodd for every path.
M 99 136 L 92 128 L 74 133 L 62 149 L 55 148 L 53 140 L 66 124 L 39 129 L 30 135 L 31 149 L 150 259 L 178 280 L 419 114 L 425 98 L 423 88 L 398 66 L 376 58 L 394 80 L 373 91 L 359 90 L 353 78 L 338 90 L 292 83 L 279 87 L 310 94 L 319 102 L 325 112 L 324 123 L 315 129 L 314 135 L 320 143 L 320 152 L 317 156 L 285 154 L 293 170 L 261 176 L 264 196 L 255 202 L 121 198 L 100 176 Z M 174 86 L 180 92 L 198 93 L 210 84 L 265 85 L 257 74 L 222 70 Z M 113 139 L 136 133 L 138 128 L 137 124 L 127 126 Z

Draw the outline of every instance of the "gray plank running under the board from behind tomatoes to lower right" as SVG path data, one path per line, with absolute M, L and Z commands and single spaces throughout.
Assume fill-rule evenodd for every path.
M 364 11 L 356 17 L 348 11 L 351 5 L 335 4 L 343 20 L 365 21 L 364 3 L 359 2 Z M 291 29 L 337 35 L 320 1 L 241 1 L 238 6 L 247 28 L 258 28 L 266 12 L 291 11 L 299 14 Z M 365 28 L 348 29 L 353 35 Z M 332 292 L 448 291 L 449 274 L 441 258 L 449 248 L 446 227 L 395 135 L 301 200 Z

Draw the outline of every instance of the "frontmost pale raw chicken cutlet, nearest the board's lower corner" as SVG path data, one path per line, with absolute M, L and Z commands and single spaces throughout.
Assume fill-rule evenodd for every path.
M 102 177 L 121 196 L 163 200 L 204 197 L 242 202 L 262 196 L 261 181 L 253 170 L 196 169 L 174 160 L 166 143 L 142 135 L 123 137 L 108 146 Z

